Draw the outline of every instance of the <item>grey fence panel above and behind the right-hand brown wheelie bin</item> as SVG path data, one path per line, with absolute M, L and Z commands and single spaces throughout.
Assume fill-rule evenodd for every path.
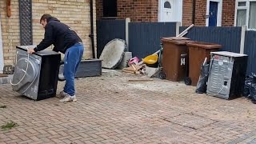
M 180 32 L 187 27 L 181 26 Z M 240 52 L 241 27 L 194 26 L 185 37 L 198 42 L 212 42 L 222 45 L 222 51 Z

